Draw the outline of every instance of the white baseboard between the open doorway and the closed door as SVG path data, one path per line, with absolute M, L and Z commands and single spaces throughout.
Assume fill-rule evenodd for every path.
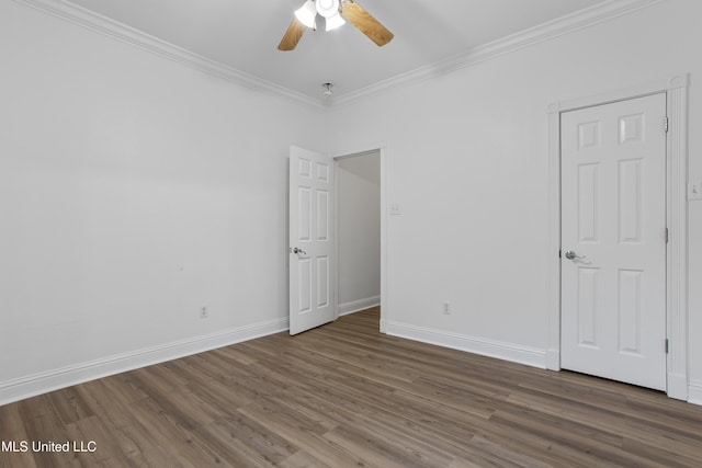
M 451 333 L 399 322 L 386 323 L 387 334 L 454 350 L 467 351 L 483 356 L 497 357 L 532 367 L 546 368 L 546 352 L 530 346 L 485 340 L 477 336 Z

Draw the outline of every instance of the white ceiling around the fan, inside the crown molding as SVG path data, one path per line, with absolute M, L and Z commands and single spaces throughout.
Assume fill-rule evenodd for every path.
M 263 82 L 320 100 L 358 93 L 602 0 L 359 0 L 395 38 L 377 47 L 347 23 L 307 31 L 278 50 L 304 0 L 71 0 L 72 3 Z

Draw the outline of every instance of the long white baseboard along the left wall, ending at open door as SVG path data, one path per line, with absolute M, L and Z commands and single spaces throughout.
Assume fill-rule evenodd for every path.
M 269 320 L 158 346 L 145 347 L 105 358 L 80 363 L 41 374 L 0 381 L 0 406 L 70 387 L 97 378 L 133 370 L 179 357 L 202 353 L 288 329 L 287 318 Z

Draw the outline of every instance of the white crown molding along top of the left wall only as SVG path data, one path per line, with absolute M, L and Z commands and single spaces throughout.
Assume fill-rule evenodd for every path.
M 154 37 L 134 27 L 94 13 L 66 0 L 14 0 L 52 16 L 69 21 L 73 24 L 92 30 L 132 46 L 139 47 L 159 57 L 176 61 L 190 68 L 203 71 L 217 78 L 230 81 L 247 89 L 274 94 L 293 100 L 297 103 L 320 107 L 318 100 L 312 99 L 280 84 L 262 80 L 247 72 L 228 67 L 184 48 L 174 46 L 166 41 Z

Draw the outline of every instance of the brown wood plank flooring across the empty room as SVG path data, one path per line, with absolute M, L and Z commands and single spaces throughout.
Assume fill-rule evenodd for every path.
M 702 407 L 377 329 L 369 309 L 0 407 L 0 466 L 702 466 Z

